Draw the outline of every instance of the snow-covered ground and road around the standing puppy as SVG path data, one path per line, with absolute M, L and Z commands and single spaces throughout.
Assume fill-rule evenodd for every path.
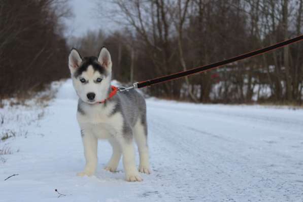
M 106 142 L 95 176 L 76 176 L 85 163 L 76 108 L 69 80 L 44 110 L 0 109 L 0 132 L 21 131 L 0 140 L 12 153 L 0 155 L 0 201 L 303 201 L 301 109 L 149 98 L 152 174 L 129 183 L 121 162 L 117 173 L 103 170 Z

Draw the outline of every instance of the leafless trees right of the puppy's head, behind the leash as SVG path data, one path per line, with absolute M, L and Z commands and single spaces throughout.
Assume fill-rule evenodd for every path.
M 172 74 L 301 32 L 301 0 L 114 0 L 113 4 L 127 31 L 110 33 L 104 43 L 112 46 L 117 57 L 116 78 L 120 80 Z M 204 103 L 258 100 L 300 104 L 302 51 L 301 44 L 291 45 L 222 69 L 157 85 L 148 93 L 174 99 L 190 97 Z

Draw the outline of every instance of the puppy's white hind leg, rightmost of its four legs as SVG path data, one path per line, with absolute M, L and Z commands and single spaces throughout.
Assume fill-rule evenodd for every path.
M 150 174 L 146 120 L 142 121 L 139 119 L 133 128 L 133 133 L 140 155 L 139 171 L 141 173 Z

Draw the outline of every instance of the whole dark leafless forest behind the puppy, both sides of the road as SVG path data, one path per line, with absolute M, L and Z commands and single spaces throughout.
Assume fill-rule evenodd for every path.
M 53 9 L 48 3 L 55 1 L 26 0 L 35 4 L 28 10 L 26 4 L 16 4 L 24 7 L 18 12 L 24 12 L 22 20 L 4 12 L 12 11 L 13 4 L 1 3 L 0 96 L 68 77 L 66 58 L 72 46 L 82 56 L 97 55 L 106 46 L 112 54 L 114 79 L 133 83 L 220 61 L 302 33 L 303 0 L 113 0 L 112 10 L 95 17 L 119 22 L 120 30 L 109 32 L 100 24 L 99 31 L 69 38 L 67 43 L 59 18 L 69 14 L 68 8 Z M 95 6 L 102 8 L 98 2 Z M 4 23 L 3 19 L 11 21 Z M 23 30 L 23 24 L 32 28 Z M 18 37 L 6 42 L 12 32 Z M 303 44 L 297 43 L 145 90 L 151 96 L 196 103 L 302 105 L 301 55 Z

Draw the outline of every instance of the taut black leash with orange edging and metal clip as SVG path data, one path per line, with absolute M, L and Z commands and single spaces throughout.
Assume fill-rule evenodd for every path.
M 130 86 L 130 87 L 118 87 L 118 89 L 121 92 L 121 91 L 125 91 L 125 90 L 130 90 L 130 89 L 133 89 L 133 88 L 143 88 L 143 87 L 146 87 L 146 86 L 151 86 L 151 85 L 155 85 L 155 84 L 158 84 L 158 83 L 163 83 L 163 82 L 166 82 L 166 81 L 179 79 L 179 78 L 190 76 L 190 75 L 193 75 L 193 74 L 206 72 L 206 71 L 209 71 L 209 70 L 212 70 L 212 69 L 215 69 L 215 68 L 219 68 L 223 65 L 226 65 L 226 64 L 229 64 L 229 63 L 232 63 L 232 62 L 235 62 L 235 61 L 240 61 L 240 60 L 243 60 L 243 59 L 246 59 L 246 58 L 250 58 L 250 57 L 260 55 L 260 54 L 264 54 L 266 52 L 271 52 L 273 50 L 282 48 L 284 46 L 288 46 L 290 44 L 299 42 L 301 40 L 303 40 L 303 35 L 288 39 L 286 41 L 279 42 L 279 43 L 271 45 L 271 46 L 267 46 L 265 48 L 254 50 L 254 51 L 251 51 L 251 52 L 248 52 L 248 53 L 245 53 L 245 54 L 242 54 L 242 55 L 238 55 L 238 56 L 235 56 L 235 57 L 231 57 L 231 58 L 226 59 L 226 60 L 222 60 L 222 61 L 219 61 L 219 62 L 207 64 L 207 65 L 204 65 L 204 66 L 198 66 L 197 68 L 193 68 L 193 69 L 190 69 L 190 70 L 187 70 L 187 71 L 178 72 L 178 73 L 175 73 L 175 74 L 162 76 L 162 77 L 158 77 L 158 78 L 155 78 L 155 79 L 150 79 L 150 80 L 147 80 L 147 81 L 137 82 L 137 83 L 132 84 L 132 86 Z

